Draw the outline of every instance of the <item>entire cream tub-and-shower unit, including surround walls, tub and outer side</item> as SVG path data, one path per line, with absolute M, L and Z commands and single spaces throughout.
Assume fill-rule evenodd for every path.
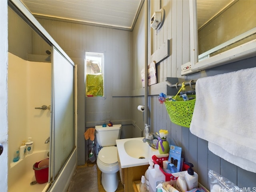
M 14 73 L 13 76 L 12 73 Z M 51 186 L 48 183 L 30 186 L 30 182 L 36 180 L 33 164 L 48 158 L 47 153 L 50 150 L 50 143 L 44 143 L 50 136 L 50 110 L 44 111 L 34 108 L 44 104 L 50 105 L 51 63 L 30 62 L 8 53 L 8 77 L 8 84 L 10 83 L 8 87 L 8 102 L 10 102 L 8 105 L 10 112 L 8 116 L 10 133 L 8 192 L 44 192 L 46 190 L 54 192 L 67 190 L 77 166 L 76 148 L 72 151 L 68 160 L 66 160 L 62 170 L 56 177 L 56 180 L 51 183 Z M 18 81 L 18 84 L 11 89 L 14 83 L 13 80 Z M 17 93 L 21 95 L 17 95 Z M 33 96 L 34 94 L 36 96 Z M 18 104 L 16 101 L 20 99 L 24 102 L 19 102 Z M 16 118 L 12 118 L 14 114 L 16 114 Z M 34 141 L 33 153 L 18 162 L 12 162 L 13 152 L 19 148 L 22 140 L 27 139 L 29 136 Z

